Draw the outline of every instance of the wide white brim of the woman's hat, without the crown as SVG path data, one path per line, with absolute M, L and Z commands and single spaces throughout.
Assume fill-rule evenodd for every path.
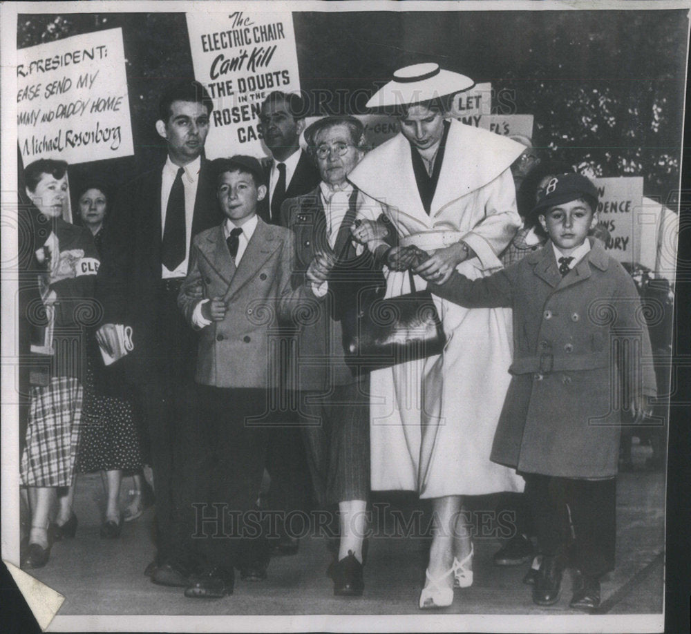
M 412 106 L 432 99 L 446 97 L 475 86 L 470 77 L 440 69 L 434 77 L 419 81 L 396 81 L 392 79 L 370 97 L 368 108 L 390 108 L 391 106 Z

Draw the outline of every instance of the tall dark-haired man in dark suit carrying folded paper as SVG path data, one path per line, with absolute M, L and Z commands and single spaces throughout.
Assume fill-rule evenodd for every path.
M 111 351 L 116 325 L 133 330 L 133 352 L 115 367 L 140 394 L 151 445 L 158 552 L 146 573 L 171 586 L 187 586 L 196 561 L 182 515 L 191 512 L 184 458 L 197 444 L 196 425 L 189 421 L 197 346 L 176 300 L 192 237 L 221 218 L 214 175 L 203 156 L 212 108 L 196 81 L 164 93 L 156 131 L 167 144 L 167 160 L 120 191 L 97 276 L 104 310 L 99 343 Z

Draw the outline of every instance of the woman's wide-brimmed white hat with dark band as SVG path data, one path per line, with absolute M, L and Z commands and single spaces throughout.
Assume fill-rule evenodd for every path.
M 399 68 L 391 81 L 370 97 L 368 108 L 408 106 L 473 88 L 470 77 L 439 68 L 433 62 Z

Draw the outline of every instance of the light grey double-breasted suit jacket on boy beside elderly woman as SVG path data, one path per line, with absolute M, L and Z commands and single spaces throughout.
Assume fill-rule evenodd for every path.
M 202 328 L 195 380 L 214 387 L 276 387 L 280 369 L 272 363 L 278 345 L 281 301 L 288 301 L 292 233 L 261 218 L 236 268 L 223 233 L 211 227 L 192 241 L 189 273 L 178 306 L 192 323 L 202 298 L 223 297 L 223 320 Z M 296 291 L 299 292 L 299 291 Z M 274 337 L 272 337 L 274 335 Z

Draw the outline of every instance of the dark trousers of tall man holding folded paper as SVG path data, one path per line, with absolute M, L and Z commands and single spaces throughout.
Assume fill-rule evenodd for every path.
M 177 296 L 174 284 L 160 290 L 155 329 L 140 332 L 135 326 L 133 354 L 115 366 L 122 364 L 120 381 L 134 388 L 144 421 L 156 493 L 156 562 L 193 568 L 196 555 L 182 515 L 193 501 L 186 457 L 200 446 L 193 422 L 197 343 Z

